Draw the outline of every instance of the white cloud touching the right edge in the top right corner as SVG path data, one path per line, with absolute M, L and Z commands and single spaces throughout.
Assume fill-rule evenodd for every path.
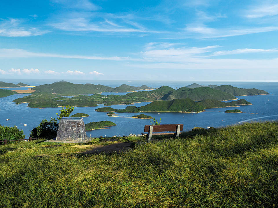
M 275 16 L 278 14 L 278 4 L 259 5 L 256 8 L 248 10 L 245 15 L 247 18 L 260 18 L 265 16 Z

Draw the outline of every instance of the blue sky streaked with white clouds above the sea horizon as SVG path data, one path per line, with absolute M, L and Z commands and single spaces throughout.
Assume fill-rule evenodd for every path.
M 1 78 L 278 81 L 278 0 L 1 1 Z

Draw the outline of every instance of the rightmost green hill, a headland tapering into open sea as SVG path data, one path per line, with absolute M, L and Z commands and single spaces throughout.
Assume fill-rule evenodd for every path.
M 252 89 L 237 88 L 237 87 L 233 87 L 231 85 L 221 85 L 221 86 L 215 87 L 214 89 L 220 90 L 222 92 L 226 92 L 226 93 L 234 95 L 234 96 L 269 94 L 268 92 L 266 92 L 264 90 L 258 90 L 255 88 L 252 88 Z

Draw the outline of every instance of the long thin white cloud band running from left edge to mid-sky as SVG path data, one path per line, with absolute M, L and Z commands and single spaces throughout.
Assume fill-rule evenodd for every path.
M 122 60 L 134 60 L 130 57 L 101 57 L 101 56 L 82 56 L 82 55 L 61 55 L 54 53 L 35 53 L 29 52 L 24 49 L 0 49 L 0 57 L 3 58 L 16 58 L 16 57 L 55 57 L 55 58 L 73 58 L 73 59 L 91 59 L 91 60 L 111 60 L 111 61 L 122 61 Z

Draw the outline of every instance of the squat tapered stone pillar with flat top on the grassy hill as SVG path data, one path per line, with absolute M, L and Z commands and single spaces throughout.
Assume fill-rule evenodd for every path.
M 87 139 L 83 118 L 61 118 L 56 141 L 83 141 Z

